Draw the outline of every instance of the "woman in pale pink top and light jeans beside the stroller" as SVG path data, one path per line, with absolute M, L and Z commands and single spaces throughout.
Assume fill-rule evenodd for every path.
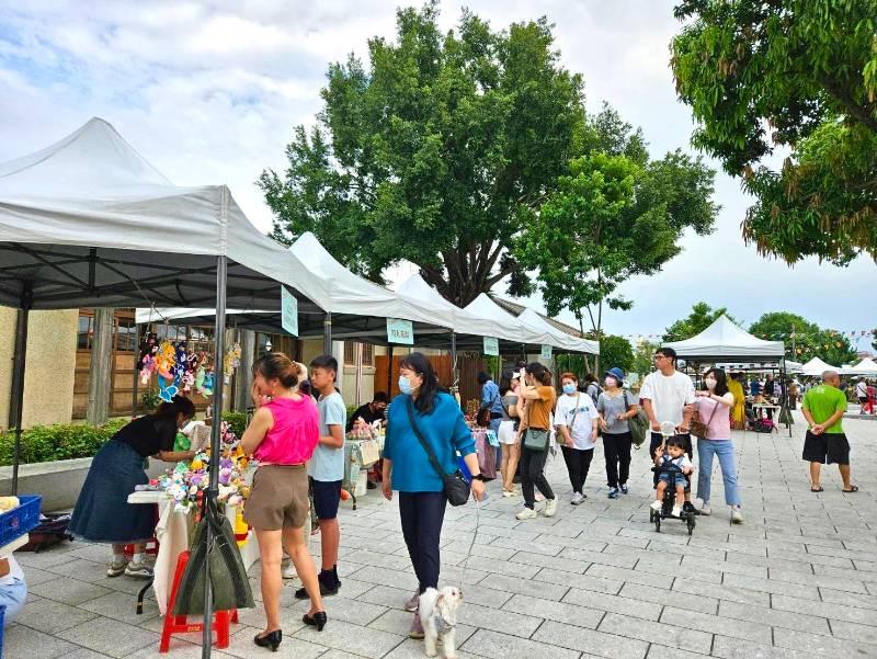
M 701 421 L 707 427 L 707 436 L 697 438 L 697 457 L 701 471 L 697 476 L 697 497 L 703 501 L 701 514 L 711 513 L 709 508 L 710 479 L 713 477 L 713 457 L 719 458 L 721 477 L 725 480 L 725 502 L 731 507 L 731 521 L 740 524 L 743 515 L 740 512 L 740 493 L 737 489 L 737 465 L 734 464 L 733 444 L 731 444 L 730 412 L 733 407 L 733 394 L 728 391 L 725 371 L 710 368 L 704 376 L 705 391 L 697 391 L 695 402 Z

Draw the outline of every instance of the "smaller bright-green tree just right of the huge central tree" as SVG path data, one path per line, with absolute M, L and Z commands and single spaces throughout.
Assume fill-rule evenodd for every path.
M 569 163 L 515 253 L 534 269 L 549 314 L 567 308 L 584 331 L 603 336 L 603 307 L 629 309 L 617 288 L 682 251 L 685 229 L 713 230 L 714 172 L 681 151 L 649 160 L 640 132 L 608 106 L 585 123 L 585 151 Z M 597 364 L 599 367 L 599 364 Z

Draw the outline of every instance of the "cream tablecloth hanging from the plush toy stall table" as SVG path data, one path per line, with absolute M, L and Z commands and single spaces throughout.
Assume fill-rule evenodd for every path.
M 134 492 L 128 496 L 128 503 L 158 503 L 159 521 L 156 525 L 158 538 L 158 556 L 156 556 L 155 580 L 152 589 L 156 591 L 158 610 L 161 615 L 168 612 L 168 599 L 173 587 L 173 572 L 176 570 L 176 559 L 182 552 L 189 549 L 189 542 L 194 530 L 194 518 L 191 513 L 175 512 L 173 502 L 164 492 Z M 236 509 L 227 505 L 229 520 L 235 519 Z M 255 534 L 250 531 L 247 544 L 240 548 L 243 567 L 248 570 L 259 560 L 259 543 Z

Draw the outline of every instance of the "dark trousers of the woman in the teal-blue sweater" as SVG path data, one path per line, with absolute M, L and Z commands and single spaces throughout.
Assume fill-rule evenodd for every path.
M 402 536 L 421 594 L 428 588 L 438 588 L 438 538 L 446 504 L 444 492 L 399 492 Z

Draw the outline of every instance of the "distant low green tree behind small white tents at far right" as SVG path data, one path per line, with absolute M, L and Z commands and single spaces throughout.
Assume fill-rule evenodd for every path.
M 796 362 L 820 357 L 833 366 L 843 366 L 858 361 L 855 348 L 842 332 L 823 329 L 797 314 L 764 314 L 749 331 L 759 339 L 785 342 L 786 357 Z

